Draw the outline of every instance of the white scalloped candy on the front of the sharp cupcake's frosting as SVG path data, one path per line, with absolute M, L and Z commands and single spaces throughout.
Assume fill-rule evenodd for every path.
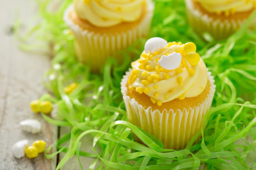
M 181 53 L 174 52 L 171 55 L 163 55 L 159 64 L 164 69 L 176 69 L 181 64 Z

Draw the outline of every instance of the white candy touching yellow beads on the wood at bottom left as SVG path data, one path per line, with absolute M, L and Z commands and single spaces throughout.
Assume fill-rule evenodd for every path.
M 21 140 L 16 142 L 13 147 L 11 147 L 11 152 L 14 154 L 14 157 L 21 158 L 25 156 L 24 150 L 28 147 L 28 140 Z

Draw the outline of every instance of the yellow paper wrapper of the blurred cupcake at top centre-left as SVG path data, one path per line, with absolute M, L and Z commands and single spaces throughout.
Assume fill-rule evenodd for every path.
M 106 62 L 107 57 L 115 57 L 120 61 L 120 56 L 114 55 L 119 50 L 132 45 L 138 38 L 146 38 L 149 35 L 154 4 L 148 1 L 147 14 L 136 27 L 114 34 L 100 34 L 90 30 L 84 30 L 75 24 L 69 17 L 73 6 L 64 13 L 64 21 L 68 24 L 75 36 L 75 50 L 78 60 L 90 63 L 92 71 L 98 72 Z

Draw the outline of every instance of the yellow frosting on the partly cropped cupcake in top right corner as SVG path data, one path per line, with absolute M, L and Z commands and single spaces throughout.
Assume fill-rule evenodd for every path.
M 250 11 L 256 8 L 256 0 L 194 0 L 210 13 L 225 13 L 226 16 L 236 12 Z

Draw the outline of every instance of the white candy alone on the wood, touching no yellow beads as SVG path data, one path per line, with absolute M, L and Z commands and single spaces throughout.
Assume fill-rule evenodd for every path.
M 26 132 L 31 132 L 33 134 L 41 132 L 41 123 L 35 119 L 23 120 L 21 123 L 21 129 Z

